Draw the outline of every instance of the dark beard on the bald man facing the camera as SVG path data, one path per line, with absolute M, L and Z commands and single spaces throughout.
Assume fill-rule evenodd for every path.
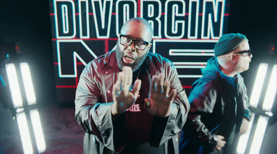
M 146 59 L 148 52 L 145 53 L 145 55 L 143 55 L 142 57 L 138 57 L 133 64 L 125 64 L 125 62 L 123 61 L 123 56 L 124 53 L 122 50 L 120 50 L 120 48 L 118 47 L 119 45 L 117 44 L 116 46 L 116 61 L 118 64 L 118 68 L 120 68 L 120 70 L 123 69 L 123 66 L 129 66 L 132 68 L 133 72 L 138 70 L 139 67 L 141 66 L 141 64 L 143 64 L 143 61 Z

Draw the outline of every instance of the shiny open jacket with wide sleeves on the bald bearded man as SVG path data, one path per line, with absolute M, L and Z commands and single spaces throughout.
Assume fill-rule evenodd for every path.
M 141 112 L 130 112 L 129 109 L 116 122 L 111 120 L 112 88 L 120 72 L 116 51 L 107 52 L 84 68 L 75 97 L 75 119 L 86 132 L 84 153 L 119 153 L 131 144 L 128 142 L 128 130 L 132 129 L 136 132 L 135 137 L 131 137 L 132 141 L 149 142 L 151 146 L 164 146 L 165 153 L 178 153 L 177 134 L 186 122 L 190 105 L 177 70 L 171 61 L 152 52 L 148 53 L 142 67 L 141 74 L 138 75 L 142 77 L 141 98 L 135 102 L 139 104 L 136 110 Z M 155 117 L 143 111 L 144 98 L 148 97 L 144 94 L 148 94 L 152 76 L 159 73 L 165 73 L 165 79 L 170 81 L 171 88 L 177 90 L 170 115 L 166 118 Z M 145 134 L 145 137 L 136 141 L 138 134 Z

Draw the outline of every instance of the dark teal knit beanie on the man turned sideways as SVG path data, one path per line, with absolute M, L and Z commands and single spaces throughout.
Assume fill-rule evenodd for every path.
M 215 48 L 213 48 L 213 50 L 215 51 L 215 57 L 224 55 L 231 50 L 234 50 L 238 47 L 238 45 L 240 45 L 240 43 L 242 43 L 242 41 L 244 41 L 244 39 L 247 39 L 247 37 L 240 33 L 230 33 L 222 35 L 217 44 L 215 44 Z

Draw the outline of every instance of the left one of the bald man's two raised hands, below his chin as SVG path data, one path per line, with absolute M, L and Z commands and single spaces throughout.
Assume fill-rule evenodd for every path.
M 124 66 L 123 71 L 118 73 L 118 79 L 113 87 L 114 104 L 111 105 L 111 114 L 119 115 L 124 113 L 127 108 L 136 102 L 141 89 L 141 80 L 134 82 L 134 88 L 131 89 L 133 71 L 129 66 Z

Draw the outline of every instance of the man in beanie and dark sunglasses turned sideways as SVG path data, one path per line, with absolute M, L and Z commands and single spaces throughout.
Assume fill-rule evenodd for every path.
M 240 73 L 252 58 L 248 39 L 240 33 L 222 35 L 214 51 L 188 97 L 180 153 L 234 153 L 238 135 L 247 131 L 249 97 Z

